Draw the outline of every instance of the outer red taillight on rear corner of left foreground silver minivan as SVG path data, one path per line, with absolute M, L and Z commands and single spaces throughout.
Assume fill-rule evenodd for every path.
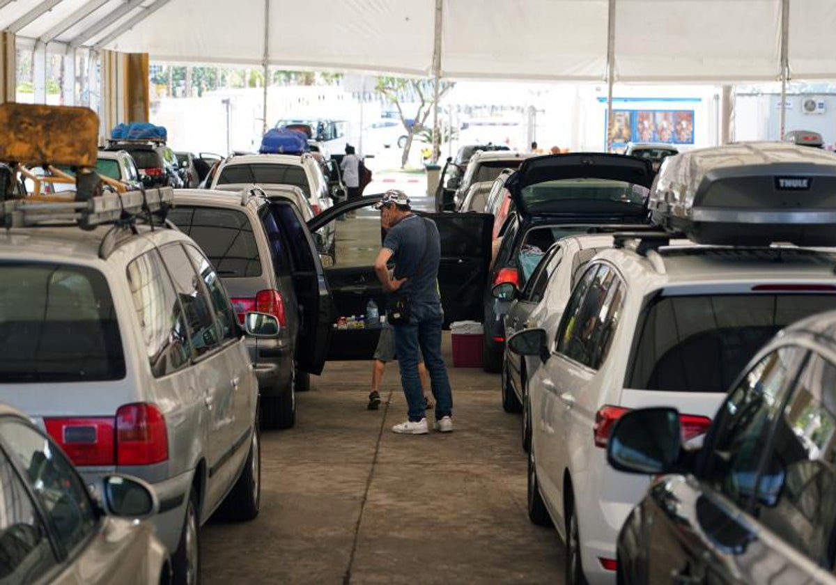
M 136 403 L 116 411 L 116 465 L 150 465 L 168 460 L 166 419 L 154 404 Z

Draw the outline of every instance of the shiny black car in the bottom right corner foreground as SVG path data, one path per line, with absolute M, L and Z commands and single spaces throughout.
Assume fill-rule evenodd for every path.
M 676 410 L 634 410 L 619 471 L 665 474 L 619 533 L 619 582 L 836 582 L 836 312 L 778 333 L 732 384 L 704 444 Z

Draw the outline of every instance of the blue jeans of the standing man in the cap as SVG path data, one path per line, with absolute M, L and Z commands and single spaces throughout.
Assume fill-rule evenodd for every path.
M 422 355 L 430 374 L 432 395 L 436 398 L 436 420 L 453 413 L 453 393 L 441 357 L 442 322 L 440 303 L 413 303 L 410 323 L 395 325 L 400 384 L 404 387 L 410 420 L 415 422 L 426 416 L 421 379 L 418 378 L 418 360 Z

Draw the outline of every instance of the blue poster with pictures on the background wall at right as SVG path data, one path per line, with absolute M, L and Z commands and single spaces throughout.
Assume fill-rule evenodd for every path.
M 628 142 L 694 144 L 693 109 L 614 109 L 613 121 L 615 149 L 623 149 Z

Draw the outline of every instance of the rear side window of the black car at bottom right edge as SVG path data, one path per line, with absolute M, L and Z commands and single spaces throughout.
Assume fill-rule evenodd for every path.
M 757 509 L 773 532 L 833 567 L 836 529 L 836 366 L 814 356 L 805 365 L 772 435 Z

